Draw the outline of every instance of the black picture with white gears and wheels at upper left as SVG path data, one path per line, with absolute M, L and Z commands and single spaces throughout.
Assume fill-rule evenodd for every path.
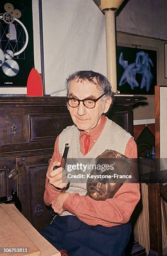
M 0 88 L 26 87 L 34 67 L 32 0 L 0 1 Z

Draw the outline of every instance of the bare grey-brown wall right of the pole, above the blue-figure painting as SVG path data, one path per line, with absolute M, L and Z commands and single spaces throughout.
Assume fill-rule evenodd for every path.
M 167 0 L 129 0 L 116 23 L 117 31 L 167 40 Z

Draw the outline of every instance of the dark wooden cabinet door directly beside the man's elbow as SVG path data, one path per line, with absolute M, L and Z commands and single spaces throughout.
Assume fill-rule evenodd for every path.
M 22 214 L 40 230 L 50 224 L 52 209 L 43 201 L 48 159 L 51 154 L 17 158 Z

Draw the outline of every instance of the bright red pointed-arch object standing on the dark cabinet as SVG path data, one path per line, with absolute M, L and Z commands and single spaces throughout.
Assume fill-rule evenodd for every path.
M 43 83 L 40 74 L 32 68 L 27 80 L 27 96 L 43 96 Z

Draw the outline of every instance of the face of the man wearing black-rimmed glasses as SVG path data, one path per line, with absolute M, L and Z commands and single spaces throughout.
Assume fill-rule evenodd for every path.
M 96 81 L 94 81 L 96 82 Z M 74 97 L 79 100 L 86 98 L 97 99 L 101 96 L 101 92 L 97 88 L 96 84 L 89 82 L 88 80 L 72 80 L 69 86 L 68 97 Z M 68 109 L 73 120 L 73 123 L 77 126 L 79 130 L 83 130 L 86 133 L 90 133 L 101 120 L 101 115 L 103 113 L 101 100 L 96 102 L 94 108 L 86 108 L 83 102 L 80 102 L 78 107 L 72 108 L 68 105 Z M 111 99 L 107 100 L 104 113 L 109 109 Z

